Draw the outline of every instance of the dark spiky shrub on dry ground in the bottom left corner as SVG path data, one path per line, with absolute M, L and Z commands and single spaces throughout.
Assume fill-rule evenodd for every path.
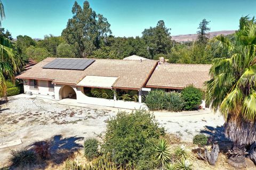
M 35 152 L 27 150 L 26 148 L 12 150 L 9 162 L 14 167 L 24 167 L 26 165 L 31 165 L 36 162 L 36 154 Z

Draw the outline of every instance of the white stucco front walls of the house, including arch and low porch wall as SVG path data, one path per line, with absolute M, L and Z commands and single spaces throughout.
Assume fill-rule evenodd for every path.
M 65 86 L 67 85 L 54 84 L 54 91 L 49 91 L 48 81 L 38 80 L 38 89 L 35 90 L 33 89 L 33 87 L 29 86 L 29 83 L 24 83 L 24 91 L 31 92 L 32 94 L 39 95 L 44 98 L 61 100 L 63 96 L 62 89 Z M 84 95 L 83 87 L 69 87 L 73 88 L 73 90 L 75 91 L 77 103 L 127 109 L 147 109 L 147 106 L 141 102 L 88 97 Z M 67 91 L 65 96 L 67 96 L 69 93 L 70 91 Z M 139 94 L 141 94 L 141 92 Z M 141 99 L 141 97 L 139 98 Z

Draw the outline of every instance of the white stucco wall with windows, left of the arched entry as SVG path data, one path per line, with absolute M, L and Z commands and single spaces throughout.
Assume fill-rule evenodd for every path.
M 54 91 L 49 91 L 48 81 L 38 80 L 38 89 L 30 88 L 29 82 L 27 80 L 27 84 L 24 83 L 24 92 L 32 92 L 34 95 L 41 95 L 46 98 L 53 98 Z

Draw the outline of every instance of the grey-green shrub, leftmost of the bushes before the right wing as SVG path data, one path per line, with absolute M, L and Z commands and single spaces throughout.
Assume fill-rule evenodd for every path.
M 163 90 L 149 91 L 145 97 L 145 103 L 151 111 L 157 111 L 164 108 L 165 92 Z

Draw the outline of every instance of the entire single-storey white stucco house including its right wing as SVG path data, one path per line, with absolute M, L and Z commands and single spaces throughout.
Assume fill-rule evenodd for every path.
M 210 65 L 168 64 L 155 60 L 46 58 L 19 74 L 24 91 L 44 98 L 76 99 L 78 103 L 141 109 L 142 95 L 152 89 L 180 90 L 190 84 L 203 89 Z M 110 89 L 113 98 L 89 97 L 87 91 Z M 119 91 L 132 91 L 138 100 L 124 101 Z

